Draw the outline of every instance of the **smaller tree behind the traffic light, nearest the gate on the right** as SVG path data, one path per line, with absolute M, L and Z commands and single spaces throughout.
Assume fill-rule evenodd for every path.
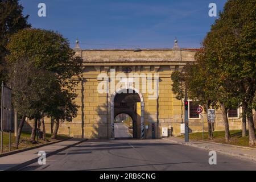
M 174 72 L 172 74 L 172 80 L 174 81 L 172 90 L 177 94 L 177 99 L 180 99 L 182 93 L 184 93 L 182 88 L 187 88 L 189 98 L 202 105 L 205 111 L 210 107 L 212 109 L 221 108 L 225 126 L 225 139 L 226 142 L 230 142 L 227 113 L 229 108 L 238 107 L 240 100 L 229 93 L 230 87 L 234 83 L 223 79 L 222 72 L 218 69 L 218 62 L 216 60 L 213 61 L 212 57 L 209 56 L 209 53 L 213 51 L 212 49 L 208 50 L 208 39 L 209 43 L 212 43 L 210 38 L 212 36 L 207 36 L 203 43 L 203 49 L 196 53 L 196 64 L 186 65 L 184 73 Z M 184 84 L 182 85 L 181 82 L 184 82 Z M 213 138 L 212 127 L 208 123 L 210 139 Z

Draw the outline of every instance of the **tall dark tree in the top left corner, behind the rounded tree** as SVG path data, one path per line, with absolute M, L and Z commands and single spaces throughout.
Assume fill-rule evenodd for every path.
M 6 81 L 6 45 L 10 36 L 23 28 L 30 27 L 28 15 L 23 16 L 23 7 L 18 0 L 0 0 L 0 82 Z M 1 91 L 0 91 L 1 92 Z

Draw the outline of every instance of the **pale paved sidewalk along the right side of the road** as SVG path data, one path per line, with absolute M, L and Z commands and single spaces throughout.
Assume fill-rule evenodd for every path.
M 201 148 L 208 151 L 216 151 L 220 154 L 225 154 L 241 159 L 254 160 L 256 162 L 256 148 L 233 146 L 229 144 L 214 143 L 214 142 L 203 142 L 203 141 L 189 141 L 184 142 L 182 138 L 170 137 L 164 138 L 170 142 L 184 144 L 191 147 Z

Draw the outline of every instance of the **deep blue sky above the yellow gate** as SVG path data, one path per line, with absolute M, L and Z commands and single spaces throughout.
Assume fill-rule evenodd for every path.
M 226 0 L 20 0 L 32 27 L 60 32 L 71 47 L 78 37 L 83 49 L 171 48 L 175 36 L 180 47 L 199 48 L 218 18 L 208 15 L 212 2 L 222 11 Z

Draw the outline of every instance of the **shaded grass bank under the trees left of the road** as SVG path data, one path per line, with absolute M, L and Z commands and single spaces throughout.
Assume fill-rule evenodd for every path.
M 30 142 L 30 135 L 31 135 L 30 133 L 26 133 L 26 132 L 23 132 L 21 134 L 19 150 L 23 149 L 23 148 L 34 147 L 34 146 L 38 146 L 40 144 L 56 142 L 58 140 L 69 138 L 65 135 L 57 135 L 57 139 L 52 139 L 51 134 L 46 134 L 46 138 L 47 138 L 46 141 L 39 139 L 38 143 L 32 144 Z M 0 136 L 0 139 L 1 139 L 1 136 Z M 12 151 L 16 150 L 16 148 L 14 147 L 14 144 L 15 144 L 14 133 L 11 133 L 11 150 Z M 6 132 L 3 133 L 3 152 L 9 152 L 9 133 L 6 133 Z

